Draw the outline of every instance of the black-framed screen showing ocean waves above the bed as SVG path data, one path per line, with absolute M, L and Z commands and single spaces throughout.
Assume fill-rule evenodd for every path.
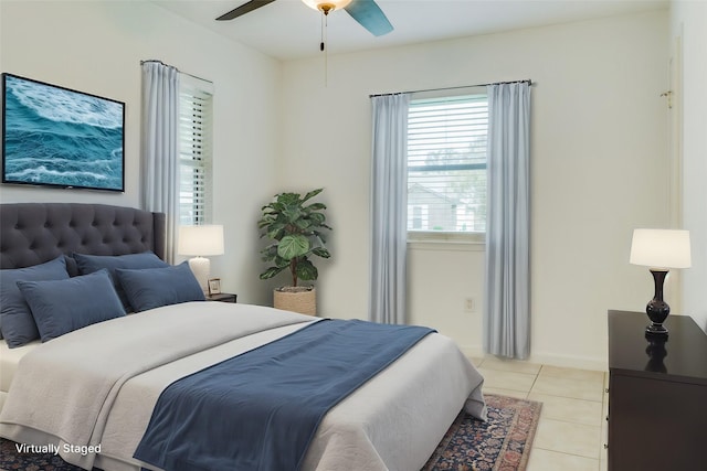
M 2 74 L 2 182 L 124 191 L 125 104 Z

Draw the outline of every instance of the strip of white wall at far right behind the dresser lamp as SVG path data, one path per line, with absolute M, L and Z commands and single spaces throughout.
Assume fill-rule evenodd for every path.
M 690 232 L 693 267 L 682 270 L 683 311 L 707 332 L 707 3 L 672 6 L 672 35 L 682 43 L 683 227 Z

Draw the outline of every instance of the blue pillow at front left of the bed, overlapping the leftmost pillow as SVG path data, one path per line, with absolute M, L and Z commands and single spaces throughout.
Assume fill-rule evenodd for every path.
M 18 281 L 42 342 L 125 315 L 107 270 L 54 281 Z

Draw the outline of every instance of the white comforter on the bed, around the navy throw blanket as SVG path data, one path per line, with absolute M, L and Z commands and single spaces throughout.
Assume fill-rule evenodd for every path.
M 165 387 L 312 321 L 271 308 L 191 302 L 81 329 L 22 358 L 0 436 L 52 443 L 84 469 L 138 470 L 143 463 L 131 457 Z M 485 418 L 482 383 L 451 340 L 428 335 L 327 414 L 305 469 L 420 469 L 462 407 Z

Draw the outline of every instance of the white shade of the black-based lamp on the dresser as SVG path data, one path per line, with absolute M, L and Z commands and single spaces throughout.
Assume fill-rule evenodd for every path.
M 653 268 L 688 268 L 689 231 L 634 229 L 629 261 Z

